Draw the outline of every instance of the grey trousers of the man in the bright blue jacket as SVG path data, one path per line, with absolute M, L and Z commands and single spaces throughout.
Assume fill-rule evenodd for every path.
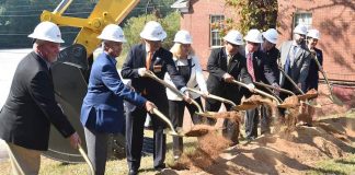
M 84 127 L 88 156 L 95 171 L 95 175 L 104 175 L 107 158 L 108 133 L 100 133 Z

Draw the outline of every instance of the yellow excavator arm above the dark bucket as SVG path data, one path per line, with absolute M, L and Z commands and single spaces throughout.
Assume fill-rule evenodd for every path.
M 80 27 L 75 44 L 84 46 L 89 57 L 99 46 L 96 38 L 107 24 L 121 23 L 127 14 L 137 5 L 139 0 L 99 0 L 88 19 L 79 19 L 61 15 L 72 0 L 62 0 L 53 11 L 43 11 L 41 21 L 50 21 L 60 26 Z

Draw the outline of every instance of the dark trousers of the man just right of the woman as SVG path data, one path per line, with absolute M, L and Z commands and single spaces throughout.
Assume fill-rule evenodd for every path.
M 236 103 L 236 102 L 234 102 Z M 226 109 L 227 110 L 230 110 L 231 108 L 231 105 L 230 104 L 226 104 L 224 103 L 225 106 L 226 106 Z M 236 103 L 236 104 L 239 104 Z M 207 100 L 206 101 L 206 106 L 205 106 L 205 109 L 207 112 L 218 112 L 219 108 L 220 108 L 220 105 L 221 105 L 221 102 L 218 102 L 218 101 L 214 101 L 214 100 Z M 213 118 L 207 118 L 207 121 L 209 125 L 215 125 L 216 124 L 216 120 L 213 119 Z M 222 130 L 222 133 L 224 133 L 224 137 L 231 140 L 232 143 L 238 143 L 238 126 L 234 121 L 230 120 L 230 119 L 225 119 L 224 121 L 224 130 Z

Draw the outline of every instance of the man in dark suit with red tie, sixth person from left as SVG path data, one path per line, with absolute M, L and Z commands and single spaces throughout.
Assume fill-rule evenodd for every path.
M 267 84 L 278 86 L 274 72 L 266 61 L 266 55 L 260 50 L 260 45 L 263 43 L 261 32 L 259 30 L 250 30 L 244 39 L 247 42 L 247 69 L 253 82 L 267 82 Z M 265 110 L 266 109 L 262 107 L 262 112 Z M 249 141 L 257 137 L 257 124 L 259 109 L 248 109 L 245 113 L 245 137 Z

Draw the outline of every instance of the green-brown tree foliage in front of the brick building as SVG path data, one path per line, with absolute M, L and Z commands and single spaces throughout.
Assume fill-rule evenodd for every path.
M 224 36 L 229 30 L 236 28 L 245 34 L 251 28 L 266 31 L 276 27 L 277 21 L 277 0 L 225 0 L 226 5 L 234 9 L 236 14 L 226 19 L 224 22 L 213 24 L 220 30 Z M 238 23 L 233 22 L 238 19 Z

